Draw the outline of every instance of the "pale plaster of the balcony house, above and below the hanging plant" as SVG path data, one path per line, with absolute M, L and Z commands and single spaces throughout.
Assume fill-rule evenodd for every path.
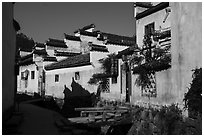
M 147 17 L 139 19 L 136 21 L 136 34 L 137 34 L 137 44 L 139 47 L 143 45 L 143 39 L 145 35 L 145 26 L 154 22 L 155 30 L 165 29 L 171 27 L 172 12 L 168 15 L 165 23 L 163 20 L 165 18 L 165 9 L 153 13 Z M 138 104 L 142 102 L 149 102 L 148 97 L 142 96 L 141 87 L 138 87 L 135 83 L 137 75 L 132 75 L 132 95 L 131 103 Z M 171 101 L 171 74 L 169 70 L 160 71 L 156 73 L 156 90 L 157 97 L 151 98 L 151 103 L 153 104 L 167 104 Z

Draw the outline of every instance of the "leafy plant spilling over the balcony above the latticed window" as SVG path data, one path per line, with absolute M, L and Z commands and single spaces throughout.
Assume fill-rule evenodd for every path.
M 151 49 L 149 49 L 151 48 Z M 149 75 L 171 67 L 171 56 L 168 54 L 170 47 L 152 46 L 150 35 L 145 35 L 143 48 L 138 55 L 132 56 L 131 62 L 136 64 L 133 74 L 138 74 L 136 84 L 145 87 L 150 84 Z

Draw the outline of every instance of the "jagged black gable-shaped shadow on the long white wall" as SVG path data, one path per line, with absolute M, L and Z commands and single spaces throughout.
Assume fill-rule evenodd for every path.
M 93 107 L 95 102 L 95 94 L 84 89 L 74 78 L 71 84 L 72 90 L 64 86 L 64 104 L 62 114 L 65 117 L 79 117 L 80 112 L 75 111 L 79 107 Z

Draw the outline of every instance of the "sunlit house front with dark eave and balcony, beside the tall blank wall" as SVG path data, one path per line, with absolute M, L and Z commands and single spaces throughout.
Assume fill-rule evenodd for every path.
M 169 48 L 171 46 L 171 7 L 169 3 L 158 3 L 153 2 L 149 4 L 149 7 L 144 7 L 140 3 L 135 3 L 135 19 L 136 19 L 136 36 L 137 45 L 139 48 L 150 48 L 147 50 L 152 50 L 153 48 Z M 157 37 L 157 40 L 152 38 L 152 48 L 143 47 L 144 46 L 144 36 L 151 34 L 166 34 Z M 152 35 L 153 36 L 153 35 Z M 154 37 L 154 36 L 153 36 Z M 166 53 L 168 54 L 168 53 Z M 170 49 L 169 49 L 170 54 Z M 152 55 L 150 55 L 152 56 Z M 132 72 L 133 73 L 133 72 Z M 138 102 L 149 102 L 152 104 L 168 104 L 170 103 L 169 90 L 169 69 L 162 70 L 152 74 L 149 79 L 151 79 L 151 86 L 147 88 L 138 87 L 135 84 L 137 75 L 132 74 L 132 103 Z M 149 98 L 149 93 L 151 92 L 151 97 Z M 150 99 L 150 100 L 149 100 Z

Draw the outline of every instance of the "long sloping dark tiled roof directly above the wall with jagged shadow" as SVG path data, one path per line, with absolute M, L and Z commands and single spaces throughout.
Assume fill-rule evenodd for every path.
M 77 66 L 90 65 L 90 54 L 81 54 L 74 57 L 69 57 L 67 59 L 61 60 L 57 63 L 52 63 L 45 66 L 46 70 L 61 69 L 61 68 L 70 68 Z

